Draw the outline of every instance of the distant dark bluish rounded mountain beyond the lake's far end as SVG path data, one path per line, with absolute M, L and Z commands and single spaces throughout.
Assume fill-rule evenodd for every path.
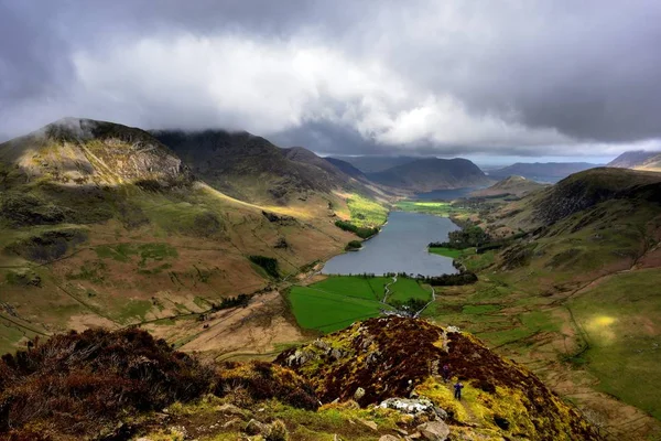
M 491 181 L 466 159 L 419 159 L 367 176 L 381 185 L 411 192 L 463 189 L 489 184 Z

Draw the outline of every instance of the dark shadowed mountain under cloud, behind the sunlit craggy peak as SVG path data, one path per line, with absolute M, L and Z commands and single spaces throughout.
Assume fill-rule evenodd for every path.
M 159 130 L 152 135 L 196 176 L 241 201 L 284 205 L 315 192 L 371 193 L 310 150 L 280 149 L 248 132 Z

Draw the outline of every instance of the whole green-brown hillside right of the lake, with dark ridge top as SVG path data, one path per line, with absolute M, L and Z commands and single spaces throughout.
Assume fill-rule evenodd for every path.
M 496 240 L 425 312 L 529 366 L 608 439 L 661 437 L 661 178 L 587 170 L 474 222 Z M 509 237 L 509 239 L 501 239 Z

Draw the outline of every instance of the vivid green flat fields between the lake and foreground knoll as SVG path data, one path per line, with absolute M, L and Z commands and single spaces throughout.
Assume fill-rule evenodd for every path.
M 332 276 L 307 287 L 292 287 L 289 301 L 301 327 L 329 333 L 391 310 L 391 305 L 381 303 L 390 282 L 392 279 L 387 277 Z M 413 279 L 400 278 L 390 289 L 388 302 L 431 299 L 431 291 Z

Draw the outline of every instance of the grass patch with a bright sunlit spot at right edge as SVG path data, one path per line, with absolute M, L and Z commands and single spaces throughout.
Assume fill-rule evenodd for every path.
M 583 366 L 597 388 L 661 419 L 661 270 L 616 275 L 568 306 L 589 349 Z

